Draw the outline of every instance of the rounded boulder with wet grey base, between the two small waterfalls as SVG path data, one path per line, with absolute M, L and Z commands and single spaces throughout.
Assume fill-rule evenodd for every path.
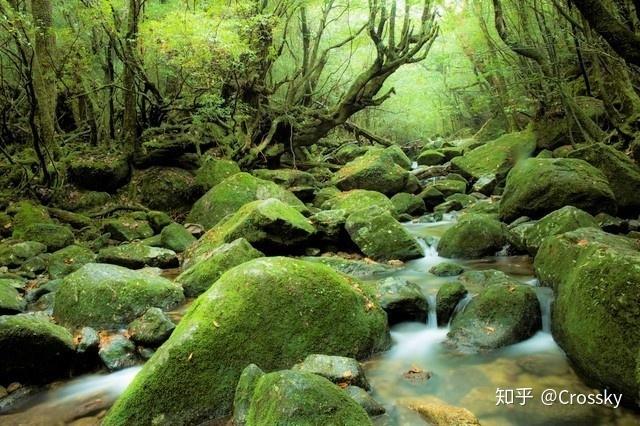
M 449 343 L 463 352 L 501 348 L 533 336 L 541 317 L 531 287 L 492 284 L 453 318 Z

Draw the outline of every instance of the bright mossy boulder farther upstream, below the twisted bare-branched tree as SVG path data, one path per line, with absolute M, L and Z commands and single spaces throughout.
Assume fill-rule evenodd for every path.
M 343 191 L 366 189 L 393 195 L 404 190 L 409 176 L 386 150 L 370 150 L 338 170 L 333 184 Z

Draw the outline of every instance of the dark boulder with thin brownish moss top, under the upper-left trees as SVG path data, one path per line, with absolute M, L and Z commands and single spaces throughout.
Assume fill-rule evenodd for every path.
M 93 153 L 74 156 L 69 161 L 69 179 L 80 188 L 113 192 L 124 186 L 131 175 L 126 156 Z

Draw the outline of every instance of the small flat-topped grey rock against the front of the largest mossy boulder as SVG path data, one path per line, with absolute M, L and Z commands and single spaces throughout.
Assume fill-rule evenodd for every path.
M 353 358 L 312 354 L 291 369 L 317 374 L 342 388 L 354 385 L 369 389 L 362 366 Z

